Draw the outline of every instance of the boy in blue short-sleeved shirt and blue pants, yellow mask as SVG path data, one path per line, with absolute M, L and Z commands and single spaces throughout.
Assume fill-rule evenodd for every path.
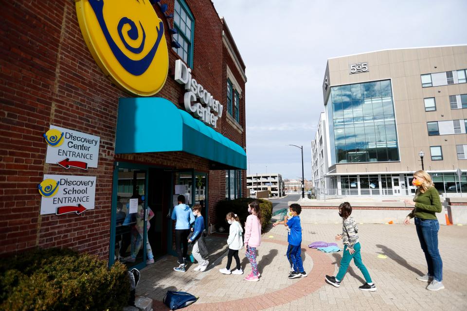
M 287 226 L 290 231 L 288 232 L 288 247 L 287 247 L 287 259 L 290 262 L 292 272 L 290 272 L 288 278 L 297 278 L 307 276 L 305 269 L 303 268 L 302 261 L 302 225 L 300 224 L 300 213 L 302 207 L 300 204 L 290 205 L 290 215 L 293 216 L 287 220 L 284 225 Z

